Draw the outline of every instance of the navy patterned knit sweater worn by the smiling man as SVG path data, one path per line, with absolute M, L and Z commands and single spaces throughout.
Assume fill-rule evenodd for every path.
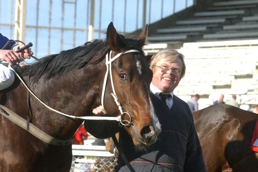
M 193 116 L 187 103 L 174 95 L 173 106 L 169 109 L 153 93 L 151 98 L 162 129 L 157 141 L 146 151 L 139 151 L 125 130 L 121 130 L 119 135 L 119 143 L 134 170 L 137 172 L 206 171 Z M 87 127 L 87 123 L 91 123 L 89 120 L 85 122 L 85 128 L 89 133 L 92 131 L 93 136 L 101 135 L 92 127 Z M 130 172 L 120 155 L 117 164 L 116 171 Z

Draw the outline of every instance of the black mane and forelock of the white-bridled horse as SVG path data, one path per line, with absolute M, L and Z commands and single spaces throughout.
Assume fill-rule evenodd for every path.
M 137 46 L 139 41 L 134 39 L 125 39 L 122 35 L 120 35 L 120 37 L 126 47 L 139 50 L 142 54 L 144 54 L 141 47 Z M 80 69 L 88 64 L 89 60 L 91 60 L 94 55 L 97 55 L 99 58 L 91 63 L 99 63 L 110 50 L 111 49 L 107 45 L 106 41 L 93 40 L 74 49 L 61 51 L 59 54 L 41 58 L 33 64 L 26 65 L 22 68 L 17 68 L 16 71 L 21 76 L 33 76 L 31 81 L 34 83 L 37 82 L 44 74 L 46 75 L 46 79 L 50 79 L 54 76 L 62 76 L 72 69 Z

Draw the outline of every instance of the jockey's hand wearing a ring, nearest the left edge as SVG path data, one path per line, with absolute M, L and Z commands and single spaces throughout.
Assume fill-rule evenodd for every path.
M 10 66 L 20 63 L 21 55 L 13 50 L 0 50 L 0 59 L 7 61 Z

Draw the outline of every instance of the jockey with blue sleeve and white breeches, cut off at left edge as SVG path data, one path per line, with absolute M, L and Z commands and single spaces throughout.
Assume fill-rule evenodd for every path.
M 14 73 L 8 68 L 8 64 L 13 67 L 21 62 L 21 57 L 30 59 L 31 55 L 33 55 L 31 48 L 16 53 L 15 51 L 25 45 L 18 45 L 15 41 L 9 40 L 0 33 L 0 49 L 3 48 L 7 41 L 11 41 L 10 48 L 0 50 L 0 90 L 10 87 L 14 81 Z

